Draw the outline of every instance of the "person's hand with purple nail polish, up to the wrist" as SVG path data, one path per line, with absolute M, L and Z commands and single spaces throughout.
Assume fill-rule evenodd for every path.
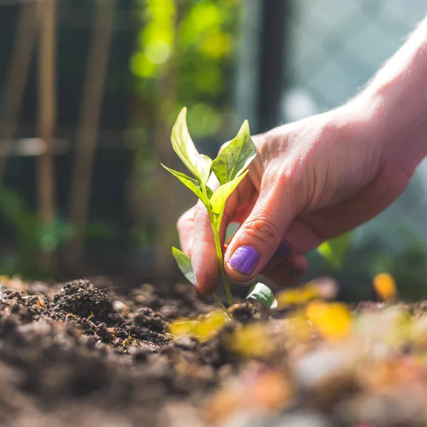
M 228 276 L 247 282 L 260 273 L 287 285 L 305 272 L 302 254 L 359 226 L 406 188 L 362 99 L 253 137 L 257 157 L 227 201 L 221 231 L 240 224 L 224 254 Z M 381 134 L 382 135 L 382 134 Z M 196 290 L 214 292 L 220 270 L 206 208 L 179 218 L 182 250 L 191 255 Z

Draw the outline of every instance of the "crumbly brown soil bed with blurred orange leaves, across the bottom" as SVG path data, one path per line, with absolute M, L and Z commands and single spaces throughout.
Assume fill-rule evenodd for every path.
M 232 322 L 199 342 L 168 333 L 175 319 L 216 309 L 191 286 L 157 295 L 150 285 L 121 291 L 106 278 L 1 283 L 1 426 L 426 425 L 426 362 L 414 365 L 411 354 L 427 348 L 427 339 L 418 347 L 399 342 L 387 355 L 390 371 L 381 358 L 365 361 L 378 378 L 362 378 L 354 367 L 322 374 L 331 363 L 341 366 L 341 353 L 315 332 L 298 342 L 287 332 L 284 339 L 286 312 L 240 303 L 231 309 Z M 379 310 L 376 303 L 356 307 Z M 427 303 L 405 310 L 422 319 Z M 269 343 L 255 334 L 246 342 L 253 353 L 233 350 L 230 337 L 242 325 L 265 323 L 274 352 L 255 352 Z M 353 351 L 352 344 L 345 348 Z M 415 389 L 406 376 L 416 378 Z

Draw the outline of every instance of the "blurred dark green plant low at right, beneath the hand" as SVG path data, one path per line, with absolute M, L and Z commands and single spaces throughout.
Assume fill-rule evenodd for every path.
M 394 246 L 375 237 L 354 245 L 354 232 L 322 243 L 315 253 L 308 254 L 309 276 L 333 275 L 342 286 L 340 297 L 363 300 L 375 297 L 371 289 L 372 278 L 378 273 L 389 273 L 396 280 L 403 300 L 426 299 L 427 253 L 424 243 L 408 228 L 395 233 Z

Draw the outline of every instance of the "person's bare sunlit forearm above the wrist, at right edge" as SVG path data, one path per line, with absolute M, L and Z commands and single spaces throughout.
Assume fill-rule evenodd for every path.
M 412 174 L 427 156 L 427 18 L 360 95 L 374 137 Z

